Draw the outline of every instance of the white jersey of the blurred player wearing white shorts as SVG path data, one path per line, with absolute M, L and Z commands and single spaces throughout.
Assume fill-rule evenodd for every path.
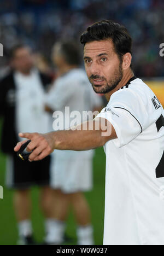
M 85 121 L 81 119 L 83 112 L 92 111 L 94 107 L 101 107 L 102 100 L 92 90 L 85 71 L 81 68 L 74 68 L 55 80 L 54 85 L 45 97 L 45 104 L 56 113 L 54 115 L 54 122 L 52 121 L 52 123 L 56 124 L 53 125 L 53 129 L 56 131 L 69 129 L 69 127 Z M 58 118 L 58 111 L 63 113 L 63 115 L 60 115 L 63 122 Z M 89 119 L 92 118 L 91 116 Z M 77 120 L 77 123 L 74 123 L 74 120 Z M 58 125 L 59 123 L 61 126 Z M 93 150 L 82 152 L 55 150 L 54 153 L 57 154 L 57 158 L 69 158 L 71 156 L 90 158 L 92 152 Z

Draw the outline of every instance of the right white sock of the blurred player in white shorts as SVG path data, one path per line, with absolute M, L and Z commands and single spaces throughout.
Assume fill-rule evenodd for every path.
M 94 245 L 92 225 L 78 226 L 78 245 Z

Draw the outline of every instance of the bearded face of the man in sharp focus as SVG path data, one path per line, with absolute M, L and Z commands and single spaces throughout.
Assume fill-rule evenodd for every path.
M 87 77 L 98 94 L 112 91 L 122 79 L 122 64 L 110 39 L 86 43 L 84 62 Z

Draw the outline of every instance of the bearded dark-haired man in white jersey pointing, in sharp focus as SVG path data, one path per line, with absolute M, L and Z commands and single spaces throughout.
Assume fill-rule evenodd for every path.
M 43 159 L 54 149 L 104 146 L 107 161 L 103 244 L 164 245 L 161 103 L 141 79 L 134 77 L 132 39 L 124 26 L 102 20 L 89 26 L 80 40 L 87 76 L 93 90 L 106 94 L 107 107 L 92 121 L 92 130 L 77 127 L 75 131 L 45 135 L 20 133 L 20 137 L 32 139 L 28 146 L 28 150 L 34 149 L 30 161 Z M 38 142 L 40 138 L 42 142 Z

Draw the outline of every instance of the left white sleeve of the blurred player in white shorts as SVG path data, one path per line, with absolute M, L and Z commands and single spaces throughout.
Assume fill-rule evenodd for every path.
M 66 102 L 73 95 L 74 90 L 73 84 L 57 79 L 48 94 L 45 95 L 45 104 L 54 111 L 61 110 L 61 108 L 66 106 Z

